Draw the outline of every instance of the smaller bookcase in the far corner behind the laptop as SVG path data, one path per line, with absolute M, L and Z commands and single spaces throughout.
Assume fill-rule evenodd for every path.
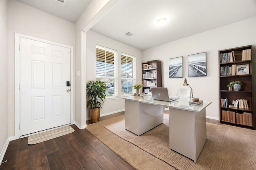
M 150 87 L 162 87 L 162 61 L 152 60 L 142 63 L 143 92 Z

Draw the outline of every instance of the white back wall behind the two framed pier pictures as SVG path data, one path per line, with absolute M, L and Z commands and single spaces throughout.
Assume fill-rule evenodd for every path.
M 176 96 L 184 78 L 193 88 L 194 97 L 212 104 L 206 108 L 206 116 L 219 119 L 219 65 L 218 51 L 245 45 L 256 47 L 256 17 L 192 35 L 142 51 L 142 60 L 162 61 L 162 86 L 168 87 L 170 96 Z M 188 77 L 188 55 L 206 52 L 207 76 Z M 252 55 L 256 57 L 256 50 Z M 170 58 L 183 56 L 183 78 L 168 78 Z

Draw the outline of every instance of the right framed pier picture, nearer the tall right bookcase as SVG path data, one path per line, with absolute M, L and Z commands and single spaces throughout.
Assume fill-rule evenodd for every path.
M 188 77 L 206 76 L 206 52 L 188 55 Z

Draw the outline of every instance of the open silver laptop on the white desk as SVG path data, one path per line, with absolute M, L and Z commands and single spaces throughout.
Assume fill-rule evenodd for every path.
M 171 102 L 179 99 L 179 97 L 169 97 L 167 87 L 152 87 L 150 88 L 150 90 L 152 92 L 152 98 L 154 100 Z

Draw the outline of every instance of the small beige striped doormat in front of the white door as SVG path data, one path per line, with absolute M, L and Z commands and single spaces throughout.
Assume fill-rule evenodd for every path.
M 64 126 L 64 127 L 50 130 L 50 131 L 38 133 L 36 135 L 31 135 L 28 137 L 28 145 L 33 145 L 36 143 L 48 141 L 50 139 L 54 139 L 56 137 L 66 135 L 66 134 L 72 133 L 74 131 L 75 130 L 71 126 Z

